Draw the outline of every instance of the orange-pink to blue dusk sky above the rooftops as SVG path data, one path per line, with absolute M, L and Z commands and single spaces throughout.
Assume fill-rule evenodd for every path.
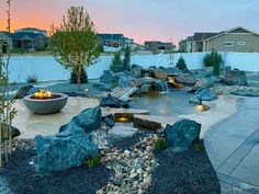
M 49 31 L 71 5 L 83 5 L 99 33 L 123 33 L 137 43 L 178 43 L 194 32 L 236 26 L 259 33 L 259 0 L 12 0 L 11 28 Z M 0 0 L 0 30 L 5 28 L 7 3 Z

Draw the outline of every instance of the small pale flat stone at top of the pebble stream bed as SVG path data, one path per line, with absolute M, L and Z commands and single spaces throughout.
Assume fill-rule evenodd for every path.
M 109 134 L 117 137 L 132 137 L 137 132 L 137 128 L 115 125 L 109 130 Z

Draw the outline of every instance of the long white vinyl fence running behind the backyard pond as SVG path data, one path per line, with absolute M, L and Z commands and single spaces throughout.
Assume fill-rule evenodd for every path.
M 203 67 L 203 58 L 206 53 L 174 54 L 173 65 L 182 56 L 189 69 Z M 103 70 L 110 68 L 112 56 L 102 56 L 100 60 L 88 68 L 89 79 L 98 79 Z M 147 68 L 149 66 L 168 67 L 168 55 L 132 56 L 132 64 Z M 246 71 L 259 71 L 259 53 L 228 53 L 226 66 Z M 69 71 L 65 70 L 52 56 L 12 56 L 10 60 L 11 81 L 25 82 L 29 76 L 36 76 L 38 81 L 67 80 Z

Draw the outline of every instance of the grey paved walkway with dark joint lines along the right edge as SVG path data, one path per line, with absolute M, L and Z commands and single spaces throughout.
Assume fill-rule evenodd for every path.
M 205 134 L 222 193 L 259 194 L 259 98 L 241 98 L 238 111 Z

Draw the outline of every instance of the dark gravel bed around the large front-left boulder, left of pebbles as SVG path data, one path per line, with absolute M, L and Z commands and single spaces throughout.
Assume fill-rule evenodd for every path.
M 0 172 L 1 194 L 92 194 L 108 184 L 113 171 L 103 164 L 88 169 L 86 166 L 64 172 L 40 175 L 35 172 L 34 149 L 16 150 Z M 7 191 L 8 189 L 8 191 Z

